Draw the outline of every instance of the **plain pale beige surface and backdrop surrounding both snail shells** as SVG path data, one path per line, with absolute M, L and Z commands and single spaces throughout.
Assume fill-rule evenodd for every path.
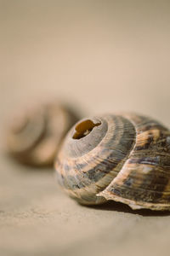
M 51 96 L 170 126 L 169 45 L 169 1 L 0 1 L 1 131 L 11 112 Z M 1 151 L 0 255 L 169 255 L 168 213 L 81 207 L 53 170 Z

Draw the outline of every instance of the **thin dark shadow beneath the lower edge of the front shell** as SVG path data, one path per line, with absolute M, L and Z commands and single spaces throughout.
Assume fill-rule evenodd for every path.
M 83 207 L 85 207 L 85 206 L 83 206 Z M 121 202 L 116 202 L 116 201 L 107 201 L 102 205 L 88 206 L 88 208 L 93 208 L 96 210 L 103 210 L 103 211 L 127 212 L 127 213 L 132 213 L 132 214 L 138 214 L 138 215 L 145 216 L 145 217 L 170 216 L 169 211 L 152 211 L 150 209 L 133 210 L 130 207 L 128 207 L 127 205 L 125 205 Z

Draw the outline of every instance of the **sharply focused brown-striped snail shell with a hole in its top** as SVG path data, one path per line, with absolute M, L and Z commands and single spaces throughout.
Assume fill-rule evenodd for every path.
M 82 119 L 55 161 L 61 186 L 79 203 L 120 201 L 170 210 L 170 131 L 135 113 Z

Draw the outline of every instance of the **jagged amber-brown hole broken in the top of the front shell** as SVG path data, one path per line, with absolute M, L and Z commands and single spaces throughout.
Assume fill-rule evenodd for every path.
M 94 124 L 94 122 L 90 119 L 82 121 L 75 127 L 76 132 L 74 133 L 72 138 L 79 140 L 82 137 L 87 136 L 94 129 L 95 126 L 99 125 L 101 125 L 100 122 Z

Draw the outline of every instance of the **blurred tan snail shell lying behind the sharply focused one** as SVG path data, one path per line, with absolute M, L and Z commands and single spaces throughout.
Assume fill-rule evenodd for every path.
M 8 127 L 8 153 L 28 165 L 52 165 L 65 133 L 76 122 L 75 113 L 55 102 L 28 109 Z

